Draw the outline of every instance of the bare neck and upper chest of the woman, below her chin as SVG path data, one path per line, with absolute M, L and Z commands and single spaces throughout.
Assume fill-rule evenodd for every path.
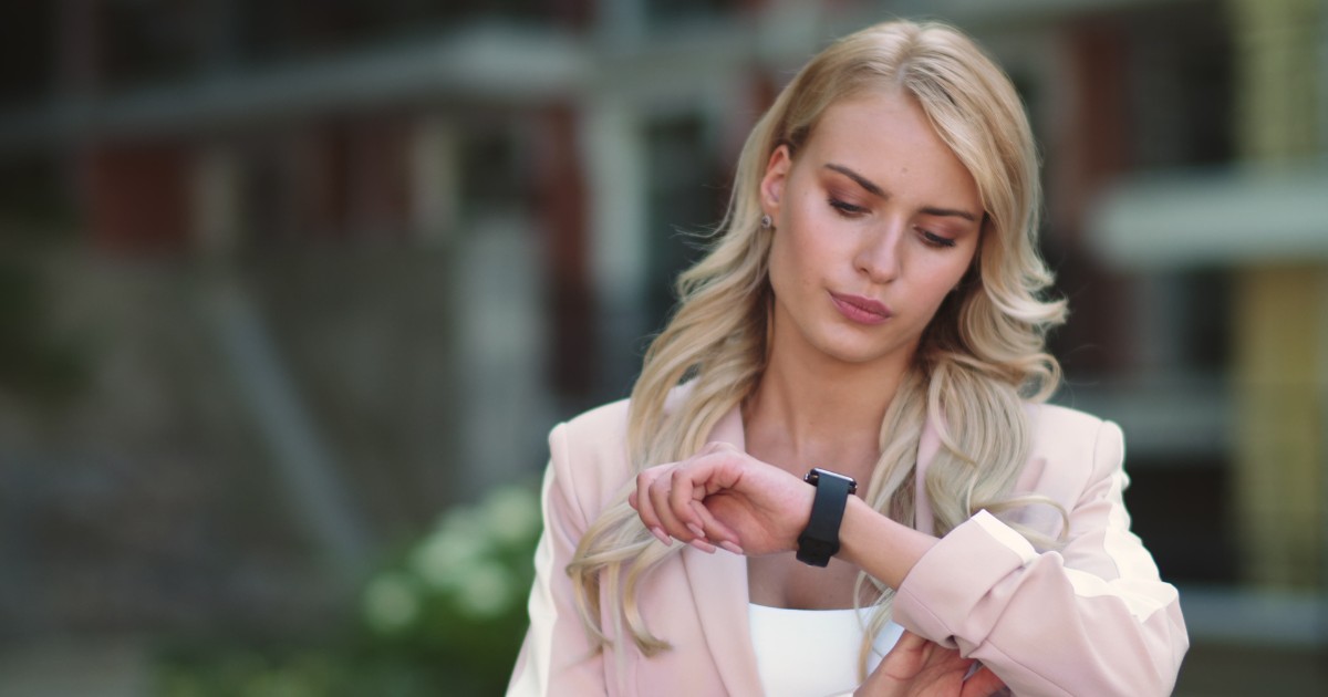
M 907 356 L 846 364 L 772 352 L 744 409 L 748 451 L 794 474 L 823 466 L 866 481 Z

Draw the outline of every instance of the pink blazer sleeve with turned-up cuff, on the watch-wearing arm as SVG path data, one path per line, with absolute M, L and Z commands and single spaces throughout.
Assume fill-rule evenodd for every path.
M 1130 532 L 1121 429 L 1102 422 L 1068 543 L 1037 552 L 980 511 L 899 587 L 894 619 L 983 661 L 1019 696 L 1170 694 L 1189 648 L 1179 595 Z

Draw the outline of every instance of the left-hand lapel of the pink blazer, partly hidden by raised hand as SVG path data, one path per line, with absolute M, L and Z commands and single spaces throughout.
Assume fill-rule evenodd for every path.
M 714 425 L 709 439 L 745 449 L 742 413 L 737 406 Z M 746 556 L 724 550 L 710 555 L 688 547 L 683 550 L 681 559 L 701 633 L 716 658 L 725 690 L 729 694 L 761 694 L 748 617 Z

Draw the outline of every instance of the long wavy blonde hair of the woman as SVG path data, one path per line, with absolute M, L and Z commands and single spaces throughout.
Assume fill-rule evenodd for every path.
M 918 443 L 930 421 L 942 442 L 924 486 L 938 535 L 981 508 L 1000 515 L 1048 503 L 1012 495 L 1029 450 L 1024 401 L 1044 401 L 1060 381 L 1044 344 L 1046 329 L 1065 317 L 1064 301 L 1042 297 L 1052 276 L 1036 251 L 1041 189 L 1033 137 L 1004 72 L 957 29 L 934 23 L 890 21 L 841 39 L 803 66 L 757 122 L 718 231 L 705 256 L 679 277 L 680 303 L 632 389 L 633 471 L 695 454 L 761 380 L 772 303 L 766 260 L 776 232 L 760 224 L 760 182 L 770 154 L 780 145 L 797 153 L 841 100 L 899 92 L 916 100 L 968 169 L 985 219 L 972 267 L 938 309 L 890 401 L 865 498 L 915 524 Z M 688 389 L 675 392 L 684 381 Z M 668 648 L 645 627 L 637 589 L 655 566 L 685 547 L 651 536 L 627 504 L 632 485 L 590 526 L 567 567 L 582 620 L 596 645 L 612 645 L 619 657 L 624 643 L 614 637 L 624 632 L 647 656 Z M 1045 534 L 1020 531 L 1041 547 L 1056 544 Z M 892 591 L 862 574 L 855 596 L 875 605 L 859 655 L 865 674 L 870 637 L 890 617 Z

